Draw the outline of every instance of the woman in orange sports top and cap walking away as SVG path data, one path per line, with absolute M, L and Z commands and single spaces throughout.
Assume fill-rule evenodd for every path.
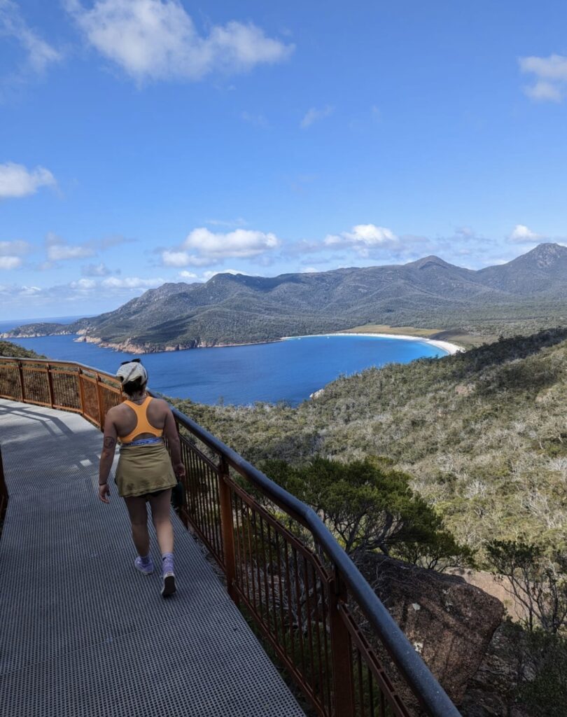
M 125 361 L 116 376 L 122 382 L 128 397 L 122 404 L 111 408 L 105 417 L 103 452 L 100 454 L 98 495 L 109 503 L 108 474 L 113 465 L 116 442 L 120 443 L 120 458 L 115 482 L 118 493 L 124 498 L 132 538 L 138 557 L 134 566 L 146 575 L 153 572 L 148 534 L 150 504 L 153 525 L 156 528 L 162 556 L 163 587 L 161 594 L 169 597 L 175 592 L 173 567 L 173 526 L 171 526 L 171 488 L 185 475 L 181 462 L 181 447 L 175 420 L 168 404 L 153 399 L 146 393 L 148 374 L 140 359 Z M 163 437 L 171 448 L 171 459 Z M 172 469 L 173 463 L 173 469 Z

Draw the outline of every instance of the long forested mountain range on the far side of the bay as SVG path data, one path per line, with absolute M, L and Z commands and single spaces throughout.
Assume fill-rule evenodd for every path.
M 69 326 L 29 324 L 2 337 L 79 333 L 83 341 L 146 353 L 365 324 L 449 329 L 551 315 L 567 315 L 567 247 L 561 244 L 540 244 L 480 270 L 429 256 L 404 265 L 277 277 L 217 274 L 206 283 L 163 284 Z

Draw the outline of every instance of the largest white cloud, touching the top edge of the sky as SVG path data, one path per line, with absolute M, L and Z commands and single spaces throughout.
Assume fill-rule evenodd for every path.
M 228 22 L 201 36 L 179 0 L 97 0 L 67 10 L 101 54 L 135 80 L 200 80 L 221 70 L 244 72 L 285 60 L 292 44 L 267 37 L 254 24 Z

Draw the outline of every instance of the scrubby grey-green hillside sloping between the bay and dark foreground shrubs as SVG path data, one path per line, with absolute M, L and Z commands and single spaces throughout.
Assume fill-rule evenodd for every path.
M 254 463 L 387 456 L 484 559 L 494 538 L 567 544 L 567 329 L 368 369 L 285 404 L 178 406 Z

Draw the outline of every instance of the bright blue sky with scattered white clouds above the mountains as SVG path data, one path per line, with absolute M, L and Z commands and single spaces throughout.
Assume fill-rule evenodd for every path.
M 567 242 L 564 1 L 0 0 L 0 319 Z

